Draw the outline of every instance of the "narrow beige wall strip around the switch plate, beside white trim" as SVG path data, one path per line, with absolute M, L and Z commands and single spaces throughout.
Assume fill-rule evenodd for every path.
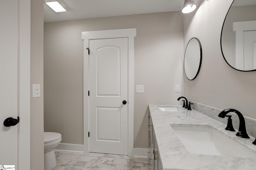
M 41 84 L 41 97 L 30 94 L 30 169 L 44 170 L 44 1 L 31 0 L 30 83 Z

